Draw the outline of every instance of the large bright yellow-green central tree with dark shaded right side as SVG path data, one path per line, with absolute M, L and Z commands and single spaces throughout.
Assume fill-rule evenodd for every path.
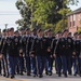
M 57 13 L 59 9 L 63 8 L 63 1 L 60 0 L 25 0 L 30 9 L 33 9 L 32 12 L 32 21 L 37 23 L 37 25 L 41 24 L 42 27 L 45 24 L 54 24 L 57 23 L 62 15 Z

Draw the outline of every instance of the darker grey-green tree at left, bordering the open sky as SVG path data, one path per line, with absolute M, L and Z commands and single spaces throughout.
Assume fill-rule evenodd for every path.
M 18 24 L 19 27 L 29 27 L 31 22 L 31 11 L 29 10 L 29 8 L 27 6 L 27 4 L 25 2 L 23 2 L 22 0 L 17 0 L 17 2 L 15 3 L 16 8 L 19 10 L 19 13 L 22 15 L 22 19 L 16 21 L 16 24 Z

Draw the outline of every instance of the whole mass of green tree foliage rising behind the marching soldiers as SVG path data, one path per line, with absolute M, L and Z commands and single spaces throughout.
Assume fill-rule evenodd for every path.
M 55 31 L 63 30 L 66 26 L 66 14 L 70 12 L 68 4 L 77 4 L 78 0 L 24 0 L 17 1 L 24 24 L 43 29 L 51 27 Z M 19 6 L 23 5 L 23 9 Z M 63 25 L 65 21 L 65 27 Z M 19 21 L 21 22 L 21 21 Z M 26 26 L 25 25 L 25 26 Z

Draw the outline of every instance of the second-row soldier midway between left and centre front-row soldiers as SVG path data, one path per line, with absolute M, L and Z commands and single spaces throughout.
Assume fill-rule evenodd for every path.
M 26 29 L 26 35 L 23 37 L 22 44 L 23 44 L 23 52 L 25 54 L 25 60 L 26 60 L 26 70 L 27 70 L 27 76 L 30 76 L 30 56 L 29 52 L 31 49 L 31 37 L 30 37 L 30 29 Z

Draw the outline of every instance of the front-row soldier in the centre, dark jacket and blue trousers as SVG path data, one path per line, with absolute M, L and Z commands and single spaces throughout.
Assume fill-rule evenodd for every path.
M 38 38 L 33 40 L 31 55 L 37 56 L 39 78 L 43 77 L 46 51 L 46 39 L 43 37 L 42 29 L 38 29 Z

